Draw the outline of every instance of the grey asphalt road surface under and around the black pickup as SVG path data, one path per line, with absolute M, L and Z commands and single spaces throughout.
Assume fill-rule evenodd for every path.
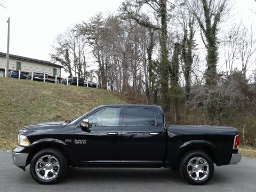
M 12 164 L 11 153 L 0 152 L 0 191 L 256 191 L 256 160 L 242 158 L 237 165 L 215 167 L 204 186 L 183 181 L 171 169 L 70 168 L 56 185 L 39 185 L 29 173 Z

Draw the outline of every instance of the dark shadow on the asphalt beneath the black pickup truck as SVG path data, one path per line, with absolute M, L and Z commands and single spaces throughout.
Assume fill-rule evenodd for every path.
M 25 175 L 24 175 L 25 174 Z M 22 175 L 22 176 L 21 176 Z M 37 183 L 31 178 L 29 169 L 24 172 L 20 172 L 17 175 L 20 181 L 27 184 L 37 185 Z M 207 185 L 223 185 L 227 182 L 234 182 L 235 179 L 228 173 L 221 170 L 215 171 L 213 178 Z M 69 167 L 63 180 L 56 185 L 74 185 L 75 183 L 83 183 L 98 186 L 99 183 L 125 183 L 130 185 L 143 184 L 161 184 L 167 185 L 181 185 L 191 186 L 187 181 L 183 180 L 178 170 L 172 170 L 170 168 L 72 168 Z M 191 186 L 192 187 L 192 186 Z

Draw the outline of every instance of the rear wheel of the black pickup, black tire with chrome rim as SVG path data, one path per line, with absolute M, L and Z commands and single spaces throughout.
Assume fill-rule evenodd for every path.
M 204 185 L 212 179 L 214 173 L 213 161 L 203 151 L 189 151 L 181 158 L 179 172 L 181 177 L 190 184 Z

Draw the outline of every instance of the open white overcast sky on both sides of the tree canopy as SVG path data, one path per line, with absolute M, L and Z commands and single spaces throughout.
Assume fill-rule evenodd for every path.
M 7 19 L 10 17 L 10 54 L 50 61 L 55 37 L 97 12 L 115 12 L 123 0 L 0 0 L 0 52 L 6 53 Z M 231 18 L 255 29 L 256 2 L 231 0 Z M 252 11 L 251 11 L 252 10 Z M 256 35 L 256 34 L 255 34 Z

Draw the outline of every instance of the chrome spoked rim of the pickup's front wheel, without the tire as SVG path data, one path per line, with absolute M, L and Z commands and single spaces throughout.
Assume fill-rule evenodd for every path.
M 57 177 L 60 170 L 60 164 L 56 157 L 45 155 L 37 160 L 35 170 L 39 178 L 50 180 Z

